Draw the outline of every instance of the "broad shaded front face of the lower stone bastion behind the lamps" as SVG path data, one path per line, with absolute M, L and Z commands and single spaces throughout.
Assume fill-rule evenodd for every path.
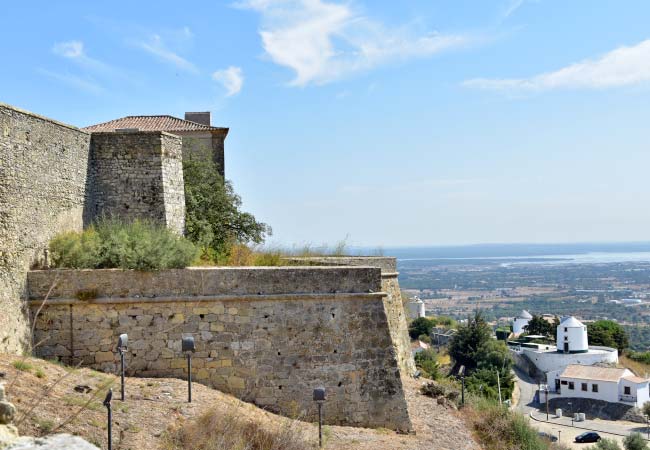
M 182 336 L 194 336 L 193 379 L 269 410 L 326 423 L 411 430 L 383 298 L 371 267 L 33 271 L 37 352 L 115 372 L 129 335 L 128 373 L 186 377 Z

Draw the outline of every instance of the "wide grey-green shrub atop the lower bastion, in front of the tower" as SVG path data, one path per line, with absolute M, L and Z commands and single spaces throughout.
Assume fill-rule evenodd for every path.
M 197 249 L 150 221 L 101 219 L 81 233 L 56 236 L 50 242 L 50 253 L 58 268 L 161 270 L 187 267 Z

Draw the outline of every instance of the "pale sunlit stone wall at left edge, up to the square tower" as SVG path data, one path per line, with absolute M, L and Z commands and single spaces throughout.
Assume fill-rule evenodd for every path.
M 51 237 L 83 225 L 90 134 L 0 103 L 0 351 L 29 328 L 26 272 Z

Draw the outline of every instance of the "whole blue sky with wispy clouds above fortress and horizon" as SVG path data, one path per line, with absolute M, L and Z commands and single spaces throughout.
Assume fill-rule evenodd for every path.
M 0 101 L 210 110 L 271 243 L 650 240 L 650 2 L 10 2 Z

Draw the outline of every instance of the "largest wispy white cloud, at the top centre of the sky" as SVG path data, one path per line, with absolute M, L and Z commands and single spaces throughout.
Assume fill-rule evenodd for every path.
M 395 60 L 426 57 L 468 43 L 463 35 L 391 29 L 326 0 L 245 0 L 262 16 L 268 56 L 295 72 L 292 85 L 324 84 Z

